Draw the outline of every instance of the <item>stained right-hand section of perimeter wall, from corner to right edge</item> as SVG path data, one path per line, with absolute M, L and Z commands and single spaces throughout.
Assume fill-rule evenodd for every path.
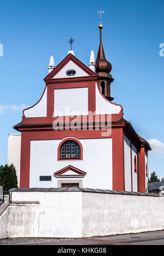
M 107 236 L 163 230 L 163 211 L 163 197 L 83 193 L 82 235 Z

